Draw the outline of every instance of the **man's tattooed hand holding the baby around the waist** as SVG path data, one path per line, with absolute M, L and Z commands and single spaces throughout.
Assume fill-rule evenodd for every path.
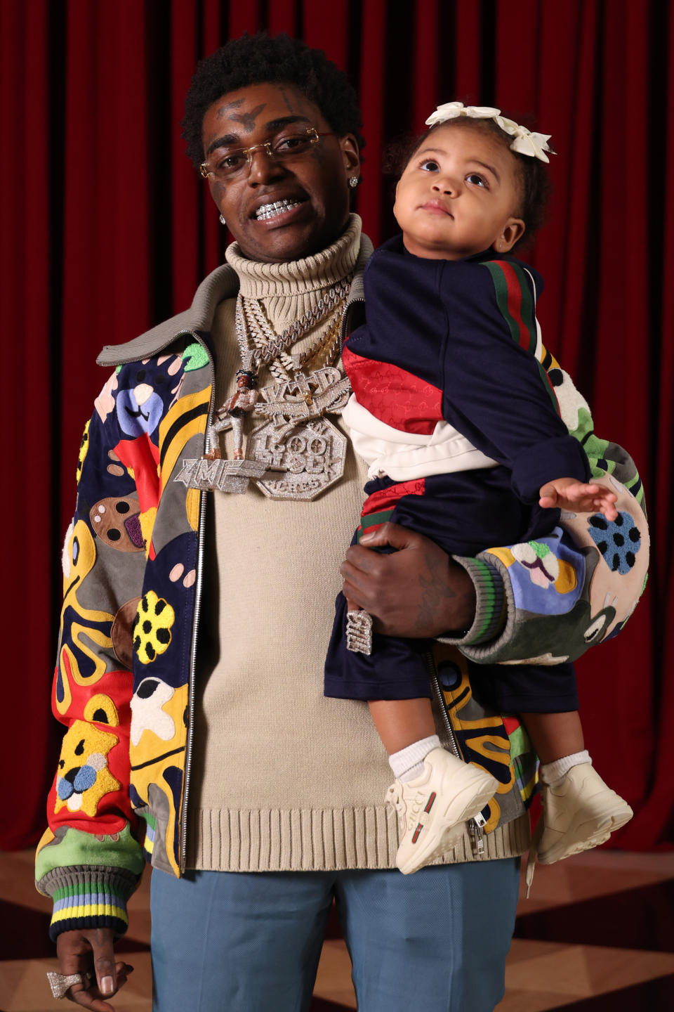
M 372 551 L 384 545 L 397 551 Z M 473 624 L 475 588 L 463 566 L 397 523 L 364 533 L 347 552 L 341 573 L 345 597 L 373 616 L 377 632 L 434 638 Z

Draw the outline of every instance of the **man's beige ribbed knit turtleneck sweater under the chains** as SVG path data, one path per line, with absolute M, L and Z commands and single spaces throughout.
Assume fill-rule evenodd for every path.
M 245 298 L 260 299 L 277 331 L 353 272 L 361 222 L 286 264 L 226 252 Z M 240 356 L 235 300 L 213 324 L 216 405 L 233 393 Z M 324 329 L 323 323 L 322 328 Z M 319 326 L 293 346 L 308 347 Z M 272 377 L 266 371 L 261 384 Z M 339 420 L 330 416 L 332 423 Z M 250 431 L 252 420 L 247 419 Z M 223 439 L 231 456 L 231 432 Z M 323 662 L 341 589 L 340 564 L 363 503 L 366 468 L 351 445 L 342 481 L 313 502 L 210 493 L 188 863 L 230 871 L 392 867 L 386 753 L 366 703 L 323 696 Z M 523 849 L 525 832 L 492 834 L 490 856 Z M 498 836 L 498 839 L 496 837 Z M 457 848 L 454 859 L 470 859 Z

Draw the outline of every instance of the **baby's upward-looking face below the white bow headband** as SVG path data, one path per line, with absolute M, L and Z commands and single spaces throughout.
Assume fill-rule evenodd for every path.
M 517 217 L 515 157 L 475 126 L 439 126 L 408 162 L 393 213 L 407 250 L 459 260 L 491 247 L 506 253 L 524 231 Z

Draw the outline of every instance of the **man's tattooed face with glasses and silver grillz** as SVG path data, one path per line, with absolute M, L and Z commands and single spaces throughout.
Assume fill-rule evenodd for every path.
M 229 150 L 273 143 L 307 126 L 330 136 L 283 160 L 270 158 L 261 148 L 251 165 L 244 164 L 233 176 L 208 177 L 220 214 L 252 260 L 299 260 L 339 238 L 349 217 L 349 177 L 360 171 L 356 139 L 331 135 L 318 107 L 292 84 L 250 85 L 228 92 L 206 110 L 202 137 L 210 164 Z M 275 203 L 277 207 L 270 206 Z

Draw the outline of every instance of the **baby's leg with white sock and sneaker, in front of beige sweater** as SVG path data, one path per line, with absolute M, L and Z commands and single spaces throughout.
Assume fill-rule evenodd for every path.
M 386 794 L 398 813 L 395 862 L 408 874 L 452 850 L 498 783 L 441 747 L 429 699 L 376 699 L 369 706 L 395 776 Z

